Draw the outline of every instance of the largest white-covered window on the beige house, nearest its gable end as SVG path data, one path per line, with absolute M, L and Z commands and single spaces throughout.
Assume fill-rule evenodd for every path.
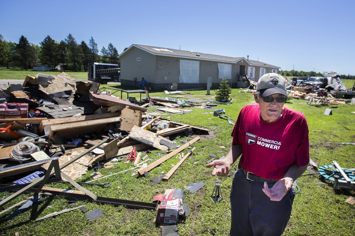
M 200 75 L 200 62 L 180 60 L 180 83 L 197 83 Z

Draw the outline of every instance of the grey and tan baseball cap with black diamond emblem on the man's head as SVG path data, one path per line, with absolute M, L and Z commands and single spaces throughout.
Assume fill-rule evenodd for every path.
M 277 73 L 267 73 L 260 77 L 256 90 L 259 90 L 263 97 L 273 94 L 282 94 L 287 97 L 286 81 L 282 75 Z

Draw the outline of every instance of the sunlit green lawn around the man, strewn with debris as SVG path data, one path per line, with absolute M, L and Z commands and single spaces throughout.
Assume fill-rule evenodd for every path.
M 0 73 L 2 71 L 0 70 Z M 1 74 L 0 74 L 1 75 Z M 354 83 L 354 81 L 352 81 Z M 111 87 L 120 88 L 119 85 Z M 241 92 L 242 89 L 233 89 L 233 103 L 230 105 L 217 105 L 214 109 L 225 109 L 225 115 L 235 122 L 240 109 L 253 101 L 251 93 Z M 206 95 L 204 91 L 187 91 L 194 96 Z M 150 92 L 151 97 L 166 97 L 164 92 Z M 211 90 L 211 97 L 201 97 L 201 99 L 213 99 L 215 91 Z M 175 98 L 176 95 L 169 97 Z M 184 98 L 181 98 L 184 99 Z M 187 99 L 187 98 L 186 98 Z M 324 105 L 308 105 L 305 100 L 289 99 L 285 106 L 302 112 L 308 123 L 310 131 L 310 158 L 318 164 L 332 164 L 332 161 L 343 168 L 355 168 L 355 146 L 342 145 L 343 142 L 355 142 L 355 106 L 339 104 L 333 107 L 324 107 Z M 157 107 L 148 108 L 148 112 L 153 112 Z M 332 109 L 332 115 L 324 115 L 326 108 Z M 185 190 L 183 202 L 188 203 L 189 215 L 185 223 L 179 223 L 178 234 L 186 236 L 200 235 L 229 235 L 230 227 L 230 187 L 233 179 L 233 173 L 237 170 L 234 164 L 230 174 L 223 178 L 211 175 L 211 170 L 206 168 L 207 161 L 212 157 L 209 153 L 216 155 L 216 158 L 224 156 L 231 145 L 232 138 L 230 133 L 233 125 L 228 123 L 226 118 L 213 116 L 213 110 L 189 107 L 193 111 L 186 114 L 166 114 L 163 118 L 171 119 L 176 122 L 186 123 L 210 130 L 209 136 L 201 135 L 202 139 L 193 144 L 196 150 L 179 167 L 169 181 L 162 181 L 160 184 L 151 184 L 149 179 L 157 177 L 162 172 L 167 173 L 171 165 L 176 164 L 178 157 L 172 157 L 152 169 L 146 177 L 131 176 L 132 171 L 116 174 L 105 178 L 101 182 L 110 182 L 111 186 L 103 189 L 98 186 L 84 186 L 86 189 L 94 192 L 98 196 L 121 198 L 126 200 L 135 200 L 143 202 L 152 202 L 155 195 L 163 194 L 166 189 L 181 188 L 202 181 L 206 185 L 196 193 L 190 193 Z M 182 141 L 191 140 L 191 137 L 177 137 L 175 141 L 183 145 Z M 152 149 L 148 158 L 158 159 L 160 150 Z M 186 150 L 184 151 L 186 153 Z M 148 164 L 151 162 L 148 162 Z M 118 162 L 112 168 L 103 168 L 99 172 L 103 175 L 120 172 L 132 168 L 132 163 Z M 310 167 L 306 173 L 317 172 L 317 168 Z M 77 181 L 91 180 L 90 174 L 93 170 Z M 210 196 L 217 179 L 222 180 L 220 186 L 224 200 L 220 203 L 214 203 Z M 353 236 L 355 225 L 355 205 L 345 202 L 348 197 L 354 197 L 354 190 L 340 189 L 334 190 L 332 185 L 323 184 L 332 183 L 327 179 L 320 178 L 318 174 L 303 175 L 298 181 L 299 192 L 296 193 L 293 204 L 293 211 L 284 236 L 318 236 L 318 235 L 337 235 Z M 72 188 L 70 184 L 53 183 L 47 184 L 48 187 Z M 1 192 L 0 196 L 5 196 L 6 192 Z M 26 193 L 12 200 L 3 206 L 0 210 L 10 207 L 13 204 L 31 196 Z M 21 236 L 58 236 L 58 235 L 141 235 L 141 236 L 160 236 L 162 229 L 155 225 L 157 217 L 156 210 L 129 209 L 123 206 L 113 206 L 111 204 L 97 204 L 92 202 L 78 201 L 77 206 L 81 204 L 87 208 L 87 212 L 92 209 L 103 209 L 102 217 L 90 221 L 81 212 L 73 210 L 71 212 L 60 214 L 56 217 L 47 218 L 40 221 L 34 221 L 38 217 L 59 212 L 64 209 L 72 208 L 68 201 L 63 197 L 45 196 L 45 202 L 35 204 L 31 208 L 6 221 L 5 218 L 14 212 L 0 215 L 0 235 L 15 235 L 19 232 Z

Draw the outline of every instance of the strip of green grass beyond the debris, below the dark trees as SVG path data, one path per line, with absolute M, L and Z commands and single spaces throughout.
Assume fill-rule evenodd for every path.
M 60 71 L 33 71 L 29 69 L 28 71 L 24 71 L 23 69 L 6 69 L 0 68 L 0 79 L 25 79 L 27 75 L 35 76 L 36 74 L 51 74 L 58 75 Z M 75 79 L 88 79 L 88 72 L 71 72 L 66 71 L 65 73 L 69 74 Z

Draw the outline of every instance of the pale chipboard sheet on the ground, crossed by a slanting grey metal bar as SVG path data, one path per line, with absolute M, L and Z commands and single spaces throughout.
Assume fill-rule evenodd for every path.
M 83 151 L 75 150 L 72 152 L 68 152 L 63 156 L 60 156 L 58 159 L 59 167 L 65 163 L 67 163 L 71 159 L 79 156 L 84 151 L 85 150 L 83 150 Z M 67 167 L 63 168 L 61 170 L 61 172 L 68 175 L 71 179 L 76 180 L 87 173 L 88 165 L 89 165 L 89 162 L 91 159 L 92 159 L 91 156 L 84 155 L 81 158 L 79 158 L 77 161 L 75 161 L 75 162 L 71 163 L 70 165 L 68 165 Z M 50 165 L 50 162 L 42 165 L 42 168 L 47 170 L 49 165 Z M 66 179 L 63 179 L 63 180 L 66 180 Z

